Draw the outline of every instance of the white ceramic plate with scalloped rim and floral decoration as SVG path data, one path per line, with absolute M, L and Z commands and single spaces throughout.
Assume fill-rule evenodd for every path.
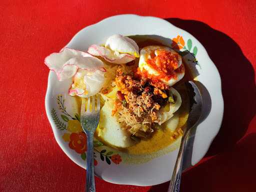
M 195 53 L 199 63 L 195 65 L 199 73 L 196 80 L 204 85 L 210 96 L 210 99 L 206 100 L 208 102 L 206 105 L 211 105 L 207 111 L 208 115 L 191 136 L 192 151 L 190 150 L 191 155 L 187 157 L 189 159 L 185 161 L 184 167 L 195 164 L 209 148 L 219 130 L 223 116 L 220 76 L 204 47 L 191 34 L 163 19 L 132 14 L 112 16 L 87 26 L 75 34 L 66 47 L 86 51 L 89 45 L 102 44 L 112 34 L 159 35 L 169 40 L 166 43 L 171 43 L 171 39 L 178 40 L 181 51 L 188 49 Z M 76 118 L 77 109 L 73 98 L 67 95 L 70 83 L 71 80 L 58 81 L 54 72 L 49 72 L 45 97 L 46 113 L 61 149 L 76 164 L 85 168 L 86 152 L 82 147 L 85 138 L 82 133 L 79 133 L 77 121 L 72 120 Z M 65 108 L 61 112 L 59 107 Z M 179 140 L 168 149 L 151 156 L 127 155 L 104 145 L 99 146 L 101 143 L 95 143 L 99 146 L 95 150 L 95 174 L 108 182 L 117 184 L 146 186 L 168 181 L 174 167 L 178 143 Z

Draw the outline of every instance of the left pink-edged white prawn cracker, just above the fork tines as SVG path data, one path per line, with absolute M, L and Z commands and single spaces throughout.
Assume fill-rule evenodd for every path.
M 103 62 L 89 53 L 71 48 L 63 48 L 58 53 L 48 55 L 44 63 L 53 70 L 58 80 L 73 77 L 69 94 L 88 97 L 96 94 L 104 82 Z

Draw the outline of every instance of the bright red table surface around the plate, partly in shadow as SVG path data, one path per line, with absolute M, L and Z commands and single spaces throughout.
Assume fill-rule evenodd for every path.
M 81 28 L 116 14 L 166 18 L 194 35 L 216 64 L 224 117 L 180 191 L 255 191 L 255 0 L 1 0 L 0 191 L 83 191 L 85 171 L 56 143 L 44 109 L 44 57 Z M 102 29 L 103 30 L 103 29 Z M 166 191 L 96 178 L 97 191 Z

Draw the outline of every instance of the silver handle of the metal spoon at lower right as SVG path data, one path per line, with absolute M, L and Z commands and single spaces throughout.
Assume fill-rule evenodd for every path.
M 186 143 L 186 137 L 187 132 L 184 133 L 184 135 L 181 138 L 181 143 L 177 155 L 177 159 L 175 162 L 175 166 L 172 172 L 171 180 L 169 183 L 169 188 L 167 192 L 178 192 L 179 191 L 179 185 L 180 185 L 180 179 L 181 179 L 181 172 L 182 172 L 182 161 L 183 161 L 183 152 L 185 148 Z

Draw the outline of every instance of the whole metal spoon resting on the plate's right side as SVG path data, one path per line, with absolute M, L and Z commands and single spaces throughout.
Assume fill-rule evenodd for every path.
M 182 160 L 183 160 L 183 152 L 185 148 L 185 142 L 189 133 L 189 130 L 197 125 L 199 118 L 201 116 L 202 111 L 202 97 L 201 93 L 196 86 L 196 84 L 192 81 L 188 81 L 188 83 L 192 86 L 193 89 L 193 99 L 192 99 L 192 107 L 188 114 L 188 118 L 186 121 L 186 126 L 184 127 L 184 134 L 181 138 L 181 143 L 177 155 L 177 159 L 175 162 L 175 166 L 172 172 L 171 180 L 169 183 L 169 188 L 167 192 L 178 192 L 179 191 L 179 185 L 180 185 L 180 179 L 181 179 L 181 172 L 182 172 Z

